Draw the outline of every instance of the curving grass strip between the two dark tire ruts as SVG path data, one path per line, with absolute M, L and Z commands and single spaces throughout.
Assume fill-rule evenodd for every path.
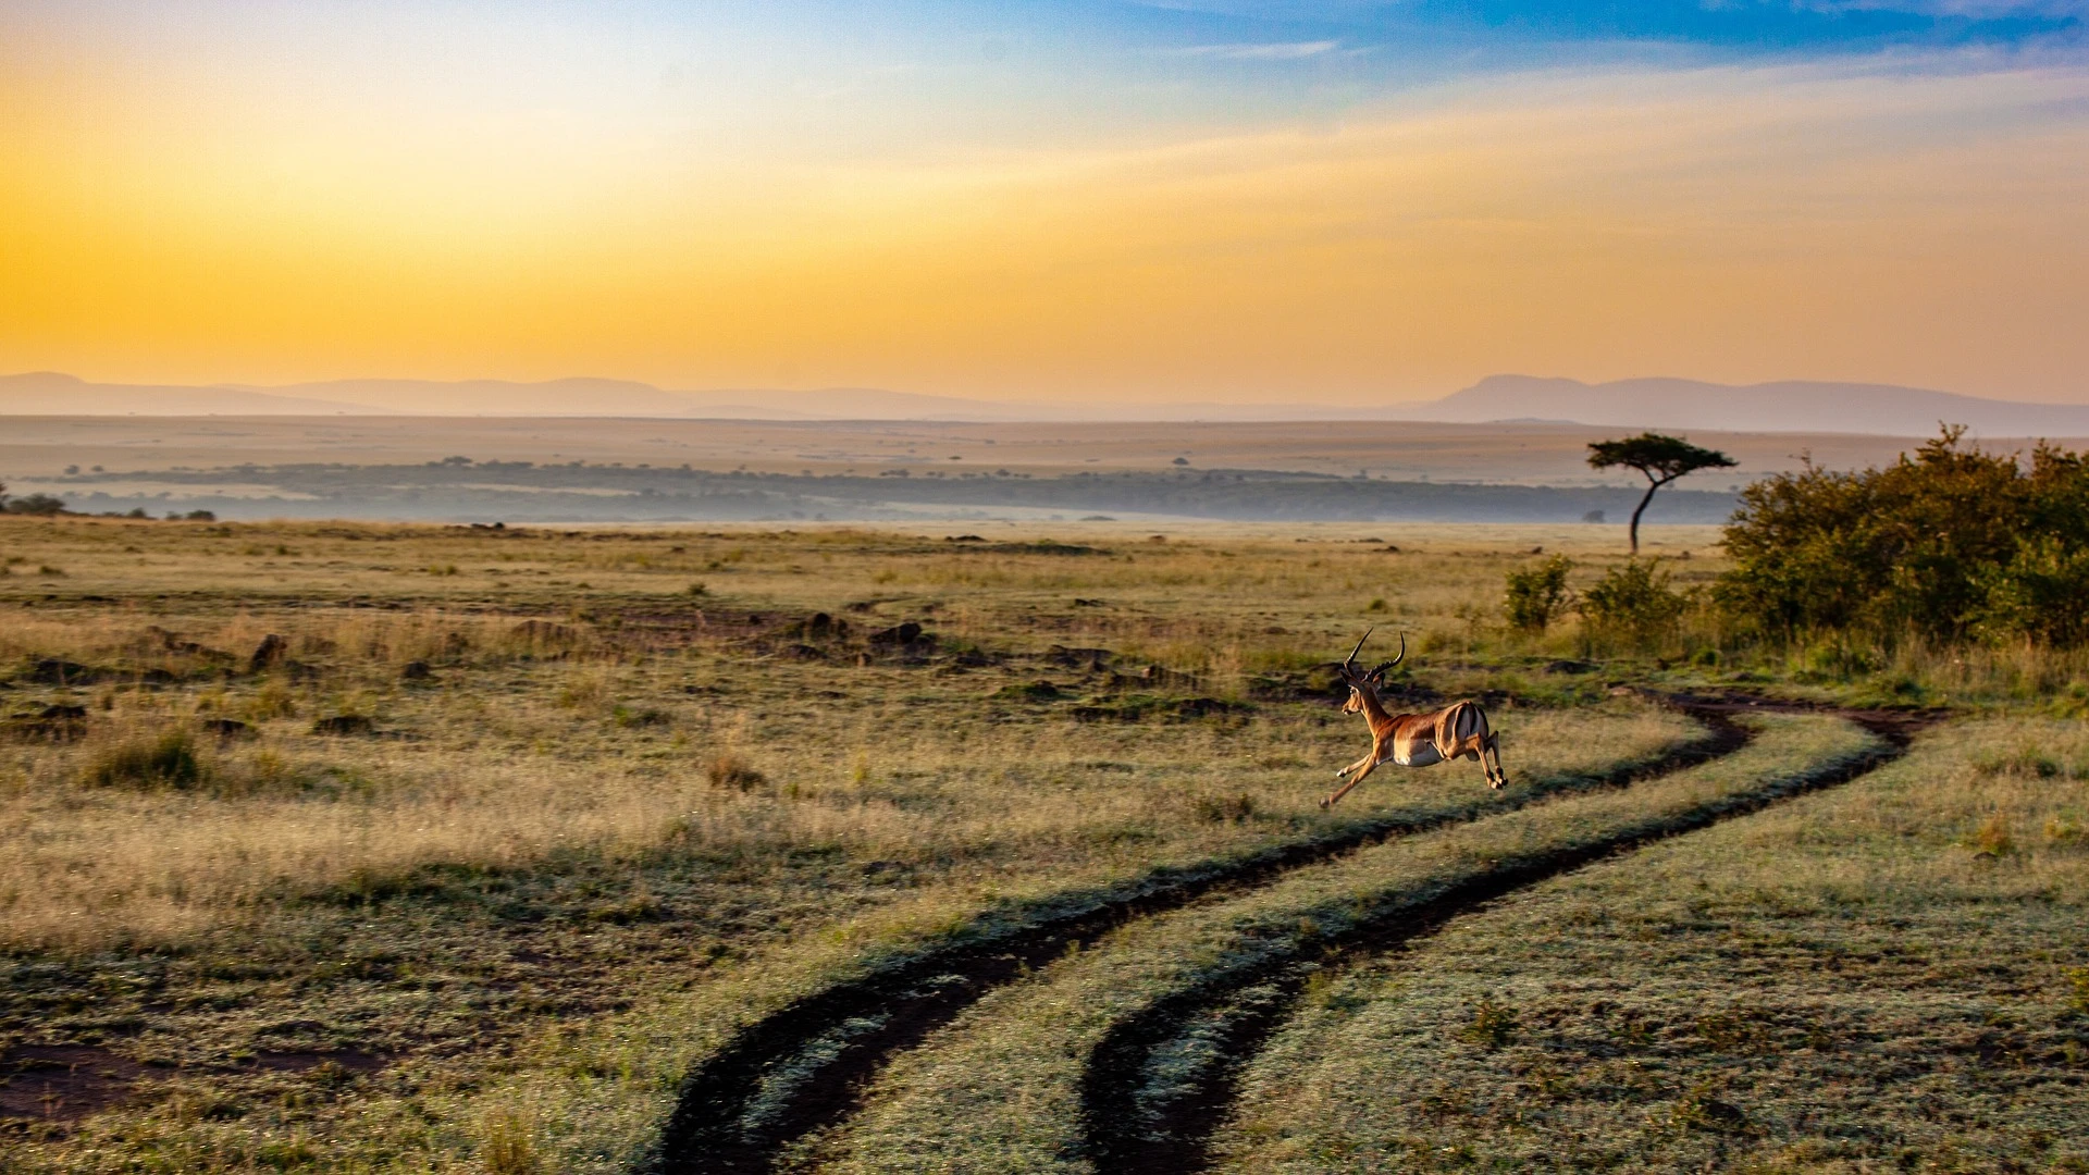
M 1865 744 L 1836 719 L 1786 719 L 1738 755 L 1659 782 L 1389 840 L 1241 901 L 1134 924 L 982 1001 L 938 1047 L 896 1064 L 852 1137 L 827 1146 L 842 1171 L 1088 1171 L 1099 1148 L 1084 1146 L 1084 1125 L 1130 1135 L 1120 1150 L 1141 1150 L 1141 1135 L 1166 1129 L 1157 1104 L 1210 1064 L 1226 1022 L 1276 997 L 1283 962 L 1318 960 L 1479 874 L 1730 801 L 1765 776 L 1797 776 Z M 1170 999 L 1184 1008 L 1143 1050 L 1126 1096 L 1088 1108 L 1105 1123 L 1084 1123 L 1090 1054 L 1111 1029 Z M 1166 1169 L 1143 1158 L 1103 1156 L 1103 1169 Z

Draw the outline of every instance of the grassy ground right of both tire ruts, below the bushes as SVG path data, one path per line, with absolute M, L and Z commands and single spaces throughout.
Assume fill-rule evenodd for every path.
M 1991 719 L 1331 976 L 1237 1171 L 2089 1169 L 2089 742 Z

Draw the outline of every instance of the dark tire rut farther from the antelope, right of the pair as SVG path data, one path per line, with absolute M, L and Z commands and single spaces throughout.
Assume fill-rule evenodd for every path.
M 1504 861 L 1500 868 L 1466 878 L 1427 903 L 1408 905 L 1385 920 L 1366 922 L 1352 932 L 1320 939 L 1312 945 L 1312 958 L 1293 953 L 1281 960 L 1266 960 L 1253 968 L 1228 972 L 1216 983 L 1155 1001 L 1141 1014 L 1113 1027 L 1097 1043 L 1082 1075 L 1082 1154 L 1095 1162 L 1097 1175 L 1191 1175 L 1210 1169 L 1212 1135 L 1233 1112 L 1241 1070 L 1291 1016 L 1310 974 L 1306 964 L 1333 964 L 1391 951 L 1538 882 L 1659 840 L 1763 811 L 1786 799 L 1847 784 L 1905 755 L 1914 732 L 1941 717 L 1916 711 L 1776 705 L 1734 696 L 1675 696 L 1665 700 L 1707 723 L 1730 723 L 1728 715 L 1751 711 L 1838 715 L 1880 736 L 1884 746 L 1801 776 L 1776 790 L 1700 807 L 1654 830 L 1634 830 L 1579 847 Z M 1249 999 L 1243 999 L 1243 995 Z M 1212 1039 L 1214 1060 L 1176 1096 L 1157 1106 L 1141 1106 L 1139 1089 L 1155 1050 L 1174 1041 L 1193 1018 L 1224 1014 L 1228 1008 L 1237 1008 L 1237 1012 L 1222 1022 L 1216 1039 Z

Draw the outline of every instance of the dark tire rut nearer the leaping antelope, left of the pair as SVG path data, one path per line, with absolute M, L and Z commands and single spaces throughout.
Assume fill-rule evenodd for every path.
M 1680 709 L 1698 719 L 1707 732 L 1648 761 L 1531 792 L 1508 805 L 1437 817 L 1364 822 L 1222 868 L 1170 870 L 1151 876 L 1139 893 L 1032 922 L 986 941 L 932 951 L 796 999 L 740 1031 L 689 1073 L 660 1133 L 658 1150 L 641 1171 L 648 1175 L 773 1171 L 781 1152 L 794 1142 L 846 1121 L 861 1106 L 865 1085 L 894 1056 L 919 1045 L 996 987 L 1019 981 L 1070 947 L 1086 947 L 1126 922 L 1258 889 L 1293 870 L 1393 836 L 1500 815 L 1560 790 L 1621 788 L 1682 771 L 1723 759 L 1753 738 L 1748 728 L 1728 717 L 1728 709 L 1705 705 Z M 788 1070 L 794 1062 L 804 1064 L 806 1058 L 813 1058 L 811 1064 L 781 1096 L 765 1096 L 767 1077 Z

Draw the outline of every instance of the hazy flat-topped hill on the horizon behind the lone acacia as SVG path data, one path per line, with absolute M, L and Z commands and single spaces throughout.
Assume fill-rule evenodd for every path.
M 1410 408 L 1416 420 L 1571 420 L 1617 429 L 1874 433 L 1926 437 L 1939 420 L 1987 437 L 2089 437 L 2089 406 L 2014 404 L 1880 383 L 1782 381 L 1730 387 L 1688 378 L 1487 376 Z

